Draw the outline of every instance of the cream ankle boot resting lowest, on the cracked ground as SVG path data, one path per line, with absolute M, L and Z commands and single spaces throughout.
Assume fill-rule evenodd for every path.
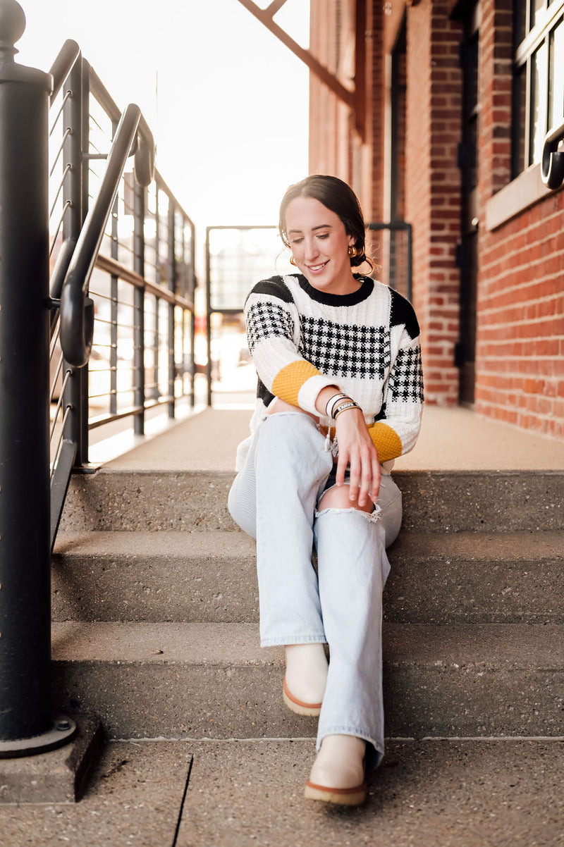
M 366 800 L 366 741 L 354 735 L 326 735 L 306 783 L 308 800 L 360 805 Z

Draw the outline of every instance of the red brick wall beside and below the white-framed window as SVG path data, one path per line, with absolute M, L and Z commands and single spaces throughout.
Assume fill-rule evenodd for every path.
M 483 0 L 480 204 L 511 167 L 511 2 Z M 479 233 L 476 409 L 564 438 L 564 194 Z M 481 216 L 482 217 L 482 216 Z

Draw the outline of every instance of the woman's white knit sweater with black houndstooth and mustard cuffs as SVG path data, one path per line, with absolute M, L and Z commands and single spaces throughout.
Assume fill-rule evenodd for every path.
M 254 286 L 245 304 L 258 374 L 252 431 L 275 396 L 318 415 L 319 391 L 338 385 L 362 408 L 380 462 L 412 449 L 423 408 L 417 318 L 387 285 L 358 280 L 346 295 L 318 291 L 301 274 Z M 319 423 L 326 431 L 331 422 L 322 415 Z

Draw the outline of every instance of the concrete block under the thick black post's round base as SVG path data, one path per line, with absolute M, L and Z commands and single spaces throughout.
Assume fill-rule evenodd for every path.
M 62 747 L 0 760 L 0 805 L 75 803 L 86 789 L 102 750 L 100 723 L 75 718 L 75 735 Z

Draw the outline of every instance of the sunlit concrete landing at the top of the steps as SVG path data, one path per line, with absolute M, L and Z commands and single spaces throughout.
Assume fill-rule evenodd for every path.
M 249 410 L 205 409 L 108 464 L 116 470 L 231 471 L 249 434 Z M 564 441 L 482 418 L 463 408 L 427 407 L 417 445 L 396 470 L 564 470 Z

